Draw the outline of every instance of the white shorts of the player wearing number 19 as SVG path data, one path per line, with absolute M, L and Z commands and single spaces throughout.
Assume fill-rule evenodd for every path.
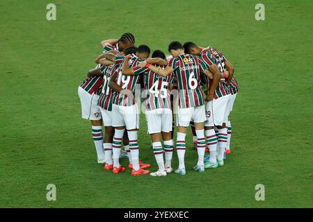
M 139 129 L 138 105 L 112 105 L 112 126 L 126 126 L 127 130 Z

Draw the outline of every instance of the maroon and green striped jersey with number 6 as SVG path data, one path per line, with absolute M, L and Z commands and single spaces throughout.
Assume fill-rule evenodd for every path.
M 174 69 L 179 92 L 179 108 L 191 108 L 204 104 L 200 86 L 201 72 L 207 69 L 204 62 L 196 56 L 182 54 L 168 63 Z

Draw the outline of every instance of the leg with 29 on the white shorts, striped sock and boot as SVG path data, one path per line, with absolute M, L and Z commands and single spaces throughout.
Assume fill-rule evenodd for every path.
M 214 99 L 213 99 L 214 100 Z M 207 136 L 207 146 L 209 147 L 209 160 L 204 163 L 204 168 L 216 168 L 217 164 L 217 136 L 214 130 L 214 121 L 212 116 L 212 101 L 205 103 L 205 113 L 207 120 L 204 121 L 204 132 Z

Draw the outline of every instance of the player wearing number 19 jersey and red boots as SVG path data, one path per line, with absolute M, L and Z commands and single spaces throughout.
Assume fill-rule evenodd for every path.
M 149 57 L 149 54 L 150 49 L 147 46 L 139 46 L 136 56 L 131 54 L 128 65 L 136 67 L 138 62 Z M 119 63 L 124 61 L 125 56 L 113 56 L 111 59 L 115 63 Z M 115 128 L 113 137 L 113 173 L 125 171 L 125 168 L 120 165 L 118 158 L 125 128 L 129 137 L 129 149 L 131 151 L 131 175 L 139 176 L 150 172 L 144 170 L 150 167 L 150 164 L 140 164 L 139 162 L 139 113 L 138 105 L 134 99 L 134 90 L 138 83 L 138 78 L 139 76 L 123 76 L 121 71 L 115 71 L 109 81 L 109 87 L 115 91 L 112 98 L 112 125 Z

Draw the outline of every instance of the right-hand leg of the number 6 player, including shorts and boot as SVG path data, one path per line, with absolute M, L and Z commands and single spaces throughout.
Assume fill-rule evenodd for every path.
M 195 133 L 198 138 L 198 163 L 194 167 L 195 171 L 204 172 L 204 153 L 205 153 L 205 139 L 204 139 L 204 121 L 205 108 L 204 105 L 195 107 L 195 112 L 193 113 L 193 121 L 195 124 Z

